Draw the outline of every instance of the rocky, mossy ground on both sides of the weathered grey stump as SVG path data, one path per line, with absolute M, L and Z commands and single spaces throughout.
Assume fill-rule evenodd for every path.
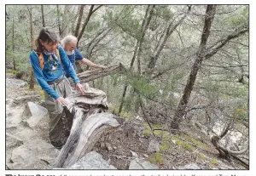
M 49 116 L 40 106 L 41 94 L 40 88 L 29 91 L 26 82 L 7 75 L 7 169 L 50 169 L 58 156 L 59 150 L 49 143 Z M 180 135 L 166 131 L 154 131 L 153 135 L 139 116 L 118 117 L 117 121 L 120 127 L 105 133 L 96 142 L 93 152 L 71 168 L 245 169 L 234 161 L 219 158 L 209 136 L 186 122 Z

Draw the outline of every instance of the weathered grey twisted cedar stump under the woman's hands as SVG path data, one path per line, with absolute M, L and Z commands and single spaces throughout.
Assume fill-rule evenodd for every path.
M 102 90 L 87 87 L 84 95 L 73 94 L 66 99 L 71 102 L 67 109 L 74 116 L 73 125 L 66 144 L 55 159 L 54 168 L 73 165 L 92 149 L 102 133 L 119 126 L 113 114 L 104 112 L 108 102 Z

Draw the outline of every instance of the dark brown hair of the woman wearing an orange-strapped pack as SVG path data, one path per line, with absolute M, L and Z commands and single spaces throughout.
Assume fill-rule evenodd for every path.
M 47 29 L 47 27 L 42 28 L 42 30 L 39 32 L 38 38 L 35 41 L 36 43 L 36 50 L 39 53 L 43 52 L 43 45 L 40 43 L 40 40 L 42 40 L 44 43 L 59 43 L 59 38 L 58 36 L 55 34 L 54 31 L 49 31 Z

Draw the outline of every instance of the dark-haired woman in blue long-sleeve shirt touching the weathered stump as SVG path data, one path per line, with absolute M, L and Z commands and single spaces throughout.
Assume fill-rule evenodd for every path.
M 68 106 L 65 98 L 73 94 L 73 89 L 67 77 L 65 77 L 61 64 L 70 77 L 72 77 L 76 88 L 81 94 L 84 94 L 84 89 L 67 58 L 66 52 L 58 46 L 58 43 L 59 40 L 55 32 L 43 28 L 36 40 L 37 48 L 30 54 L 30 62 L 39 85 L 44 89 L 45 104 L 49 111 L 49 139 L 52 145 L 55 145 L 56 148 L 61 148 L 66 143 L 68 137 L 67 127 L 65 127 L 64 123 L 72 123 L 73 121 L 73 119 L 63 121 L 63 118 L 69 117 L 66 113 L 67 111 L 65 111 L 66 116 L 63 116 L 62 113 L 64 111 L 63 106 Z M 39 59 L 42 55 L 44 57 L 44 60 L 42 60 L 43 66 L 42 61 Z

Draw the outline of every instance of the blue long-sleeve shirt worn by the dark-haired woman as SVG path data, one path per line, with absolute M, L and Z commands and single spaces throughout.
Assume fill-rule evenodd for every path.
M 53 59 L 49 61 L 49 55 L 46 55 L 43 53 L 44 56 L 44 69 L 42 70 L 40 67 L 40 61 L 38 58 L 38 54 L 36 54 L 34 51 L 31 52 L 29 55 L 30 62 L 32 64 L 32 68 L 35 74 L 35 77 L 38 80 L 39 85 L 41 88 L 43 88 L 47 94 L 49 94 L 52 98 L 58 99 L 60 97 L 59 94 L 56 93 L 56 91 L 49 86 L 47 82 L 55 82 L 55 80 L 60 79 L 63 77 L 63 70 L 61 67 L 62 65 L 65 67 L 65 71 L 68 72 L 68 74 L 72 77 L 73 82 L 79 83 L 79 77 L 77 77 L 73 66 L 71 66 L 70 60 L 67 58 L 67 54 L 64 51 L 63 48 L 59 47 L 59 53 L 61 60 Z

